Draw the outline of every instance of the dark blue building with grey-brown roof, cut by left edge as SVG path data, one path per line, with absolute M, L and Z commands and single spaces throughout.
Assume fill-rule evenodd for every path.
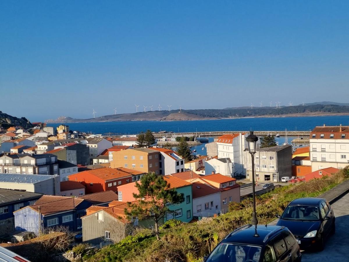
M 0 175 L 1 176 L 1 175 Z M 42 194 L 0 188 L 0 232 L 1 235 L 15 230 L 13 212 L 34 204 Z

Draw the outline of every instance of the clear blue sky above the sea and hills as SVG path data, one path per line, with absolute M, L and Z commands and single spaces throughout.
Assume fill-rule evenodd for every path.
M 1 1 L 0 110 L 348 102 L 348 13 L 349 1 Z

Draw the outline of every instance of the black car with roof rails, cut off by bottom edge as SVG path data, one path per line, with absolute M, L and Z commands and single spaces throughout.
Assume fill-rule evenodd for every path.
M 205 262 L 301 261 L 297 240 L 283 226 L 246 225 L 227 235 Z

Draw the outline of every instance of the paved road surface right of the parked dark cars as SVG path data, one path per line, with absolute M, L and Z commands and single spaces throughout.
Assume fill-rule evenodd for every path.
M 322 252 L 302 252 L 302 262 L 349 261 L 349 194 L 332 207 L 336 216 L 336 234 L 328 239 Z

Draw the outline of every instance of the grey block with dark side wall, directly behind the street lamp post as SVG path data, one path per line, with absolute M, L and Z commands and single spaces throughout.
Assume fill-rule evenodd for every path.
M 251 154 L 246 149 L 246 179 L 252 181 Z M 292 176 L 292 146 L 258 148 L 254 154 L 255 177 L 258 182 L 281 182 L 281 177 Z

